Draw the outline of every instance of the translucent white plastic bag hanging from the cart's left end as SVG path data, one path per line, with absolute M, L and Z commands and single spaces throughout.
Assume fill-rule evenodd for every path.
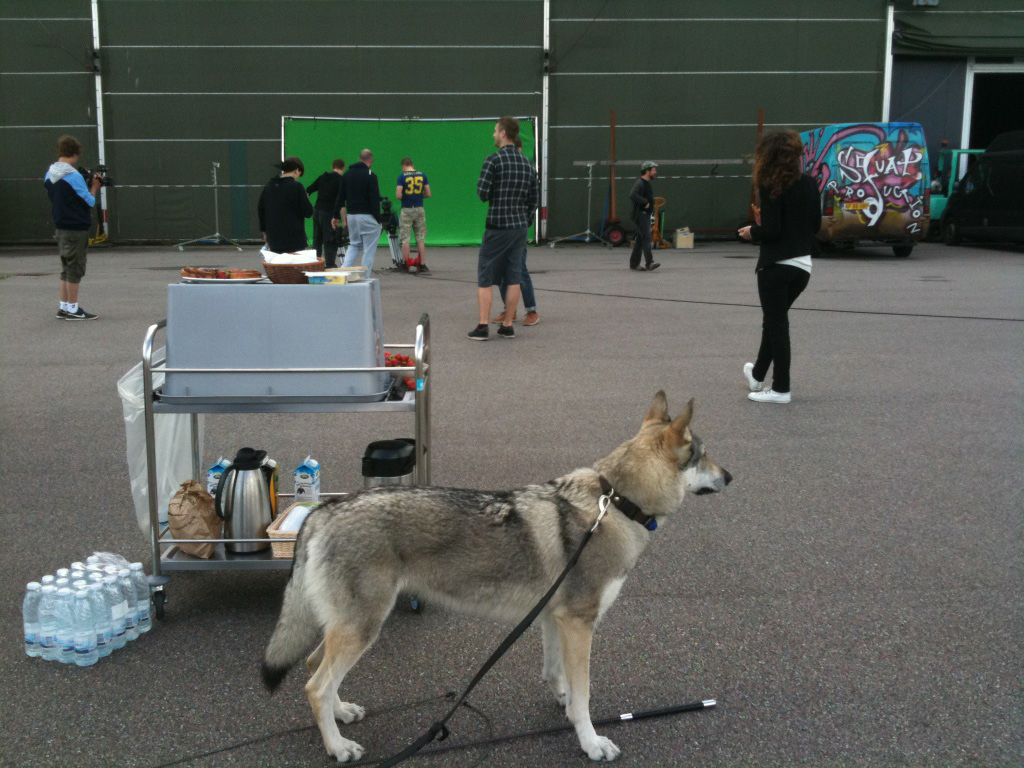
M 164 350 L 154 355 L 154 360 L 164 358 Z M 164 385 L 164 375 L 153 375 L 153 388 Z M 145 462 L 145 404 L 142 387 L 142 364 L 139 362 L 118 380 L 118 393 L 125 417 L 125 442 L 127 443 L 128 475 L 131 495 L 135 501 L 135 518 L 138 527 L 151 538 L 150 499 L 146 495 Z M 167 523 L 167 505 L 182 482 L 191 479 L 191 434 L 189 414 L 156 414 L 154 416 L 155 444 L 157 449 L 157 508 L 162 524 Z M 199 444 L 203 444 L 203 415 L 199 415 Z

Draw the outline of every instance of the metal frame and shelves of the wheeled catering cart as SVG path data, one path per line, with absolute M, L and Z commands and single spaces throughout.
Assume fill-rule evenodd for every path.
M 203 290 L 203 289 L 199 289 Z M 269 289 L 274 290 L 274 289 Z M 334 291 L 337 289 L 319 289 Z M 142 385 L 145 417 L 145 457 L 147 500 L 150 506 L 150 527 L 152 532 L 153 573 L 150 585 L 156 615 L 164 617 L 164 603 L 167 600 L 165 589 L 174 570 L 275 570 L 288 569 L 292 566 L 291 558 L 274 558 L 272 550 L 236 554 L 228 552 L 225 542 L 256 543 L 270 542 L 270 539 L 216 539 L 187 540 L 187 543 L 215 543 L 216 549 L 209 559 L 194 557 L 182 552 L 178 545 L 185 543 L 170 537 L 169 529 L 161 530 L 159 522 L 159 501 L 157 494 L 157 447 L 154 417 L 157 414 L 189 414 L 193 454 L 193 478 L 200 480 L 203 476 L 201 467 L 203 446 L 199 438 L 199 414 L 289 414 L 289 413 L 412 413 L 416 420 L 416 482 L 419 485 L 430 483 L 430 317 L 424 313 L 416 326 L 416 337 L 412 344 L 381 344 L 384 349 L 413 350 L 414 364 L 410 367 L 362 367 L 362 368 L 173 368 L 167 365 L 167 346 L 158 349 L 156 339 L 162 330 L 167 328 L 167 318 L 150 326 L 142 342 Z M 154 375 L 164 374 L 165 386 L 154 388 Z M 168 397 L 165 394 L 166 382 L 169 376 L 176 374 L 189 375 L 228 375 L 230 377 L 264 377 L 282 374 L 300 376 L 308 374 L 389 374 L 403 377 L 415 377 L 416 388 L 406 391 L 402 396 L 394 397 L 392 388 L 388 398 L 375 401 L 352 401 L 350 398 L 317 396 L 285 397 L 275 399 L 272 396 L 252 397 L 246 400 L 232 398 L 230 402 L 211 402 L 209 398 L 188 396 Z M 291 494 L 279 494 L 280 497 L 290 497 Z M 321 496 L 344 496 L 344 494 L 324 494 Z M 294 539 L 275 538 L 273 541 L 295 541 Z

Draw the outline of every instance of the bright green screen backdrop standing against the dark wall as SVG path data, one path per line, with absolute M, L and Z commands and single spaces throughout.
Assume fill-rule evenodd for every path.
M 302 182 L 311 184 L 331 170 L 335 158 L 346 166 L 358 161 L 365 147 L 374 154 L 373 171 L 380 180 L 381 197 L 400 205 L 394 191 L 401 173 L 401 159 L 411 158 L 416 170 L 430 183 L 431 198 L 424 201 L 427 213 L 427 245 L 479 245 L 487 205 L 476 197 L 476 181 L 484 159 L 495 152 L 497 118 L 468 120 L 359 120 L 351 118 L 284 119 L 287 155 L 302 159 L 306 168 Z M 523 154 L 535 157 L 535 121 L 522 119 L 519 135 Z M 536 164 L 536 161 L 535 161 Z M 312 242 L 312 222 L 306 222 Z M 534 227 L 529 229 L 534 241 Z M 381 244 L 386 237 L 381 236 Z

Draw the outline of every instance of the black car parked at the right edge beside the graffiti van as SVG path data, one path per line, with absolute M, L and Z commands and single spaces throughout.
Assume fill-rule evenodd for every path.
M 943 211 L 942 240 L 1024 243 L 1024 131 L 996 136 L 959 181 Z

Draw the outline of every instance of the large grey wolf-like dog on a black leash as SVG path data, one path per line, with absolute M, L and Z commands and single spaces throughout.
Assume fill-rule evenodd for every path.
M 377 639 L 398 595 L 519 622 L 594 526 L 610 484 L 626 501 L 600 521 L 541 613 L 541 629 L 543 679 L 564 706 L 580 745 L 591 760 L 614 760 L 618 748 L 599 736 L 590 719 L 590 648 L 595 625 L 650 538 L 624 510 L 639 507 L 641 517 L 662 523 L 685 494 L 713 494 L 732 480 L 690 432 L 692 414 L 690 400 L 670 419 L 658 392 L 634 437 L 592 469 L 543 484 L 504 492 L 392 486 L 318 507 L 299 531 L 263 681 L 272 691 L 323 632 L 306 659 L 306 696 L 327 751 L 342 763 L 358 760 L 362 748 L 344 738 L 335 721 L 361 720 L 364 709 L 342 701 L 338 688 Z

